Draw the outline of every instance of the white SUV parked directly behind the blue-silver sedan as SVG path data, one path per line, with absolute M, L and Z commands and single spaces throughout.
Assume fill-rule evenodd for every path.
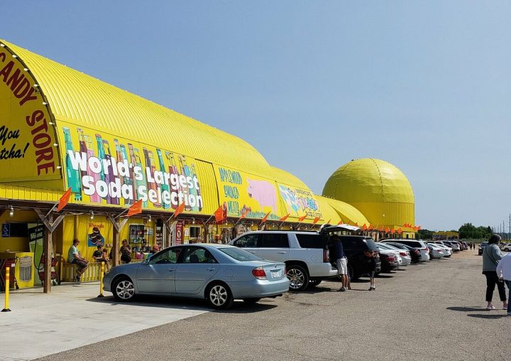
M 291 291 L 303 291 L 322 280 L 337 276 L 329 259 L 328 237 L 318 232 L 254 231 L 236 237 L 229 244 L 273 262 L 284 262 Z

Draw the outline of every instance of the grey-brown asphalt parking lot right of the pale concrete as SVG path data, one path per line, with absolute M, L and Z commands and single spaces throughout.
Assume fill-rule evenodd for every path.
M 40 360 L 509 360 L 498 339 L 509 338 L 511 317 L 485 311 L 481 262 L 465 251 L 410 265 L 378 278 L 375 292 L 368 279 L 346 293 L 324 282 Z

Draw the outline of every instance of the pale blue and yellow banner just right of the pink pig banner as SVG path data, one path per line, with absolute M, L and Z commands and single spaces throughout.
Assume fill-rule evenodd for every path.
M 310 190 L 279 184 L 279 191 L 291 217 L 323 217 L 319 203 Z

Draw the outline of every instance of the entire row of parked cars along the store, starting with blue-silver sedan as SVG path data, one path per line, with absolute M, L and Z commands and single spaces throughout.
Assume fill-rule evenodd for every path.
M 355 231 L 352 226 L 323 227 L 320 232 L 255 231 L 230 244 L 182 244 L 168 247 L 136 264 L 116 266 L 104 276 L 104 290 L 118 301 L 140 294 L 203 298 L 216 309 L 234 299 L 254 303 L 286 291 L 303 291 L 337 276 L 329 257 L 329 237 Z M 368 274 L 378 252 L 377 274 L 429 259 L 451 257 L 461 249 L 451 242 L 341 235 L 351 279 Z

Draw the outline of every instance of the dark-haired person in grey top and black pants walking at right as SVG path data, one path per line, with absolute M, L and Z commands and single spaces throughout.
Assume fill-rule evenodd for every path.
M 500 301 L 502 301 L 502 308 L 507 309 L 506 295 L 504 283 L 500 282 L 497 275 L 497 265 L 502 259 L 502 252 L 498 247 L 500 243 L 499 235 L 491 235 L 488 239 L 488 245 L 483 250 L 483 274 L 486 276 L 486 306 L 487 310 L 495 310 L 493 306 L 492 298 L 493 291 L 495 291 L 495 285 L 497 285 Z

